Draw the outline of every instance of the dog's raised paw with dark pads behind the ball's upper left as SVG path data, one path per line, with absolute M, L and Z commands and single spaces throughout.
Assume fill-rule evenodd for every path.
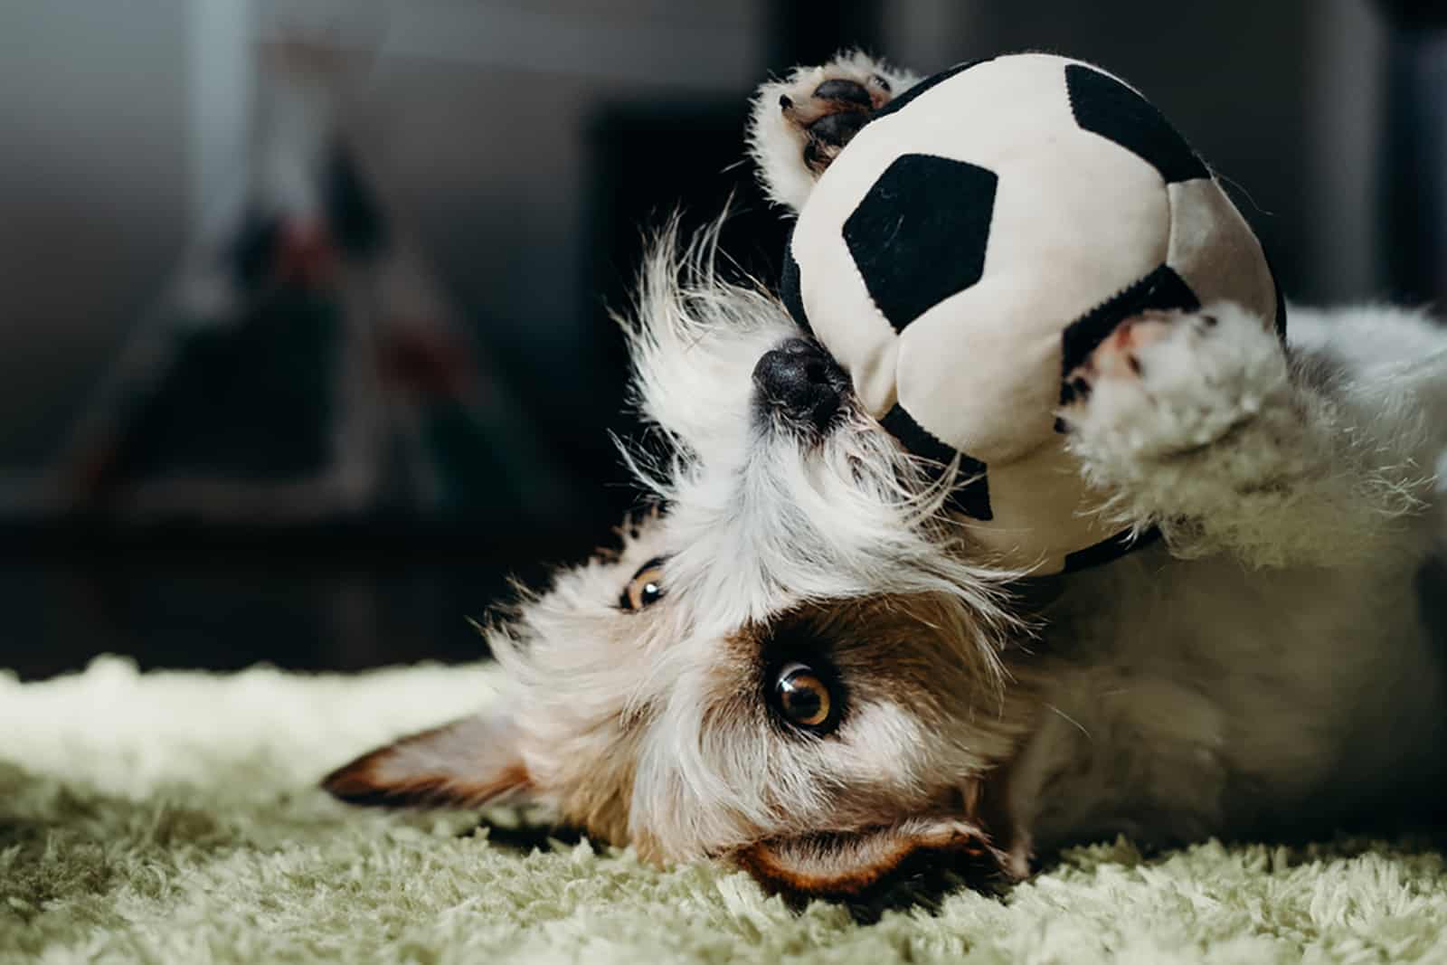
M 852 52 L 760 87 L 748 122 L 748 149 L 768 197 L 797 211 L 815 179 L 874 111 L 915 81 L 913 74 Z

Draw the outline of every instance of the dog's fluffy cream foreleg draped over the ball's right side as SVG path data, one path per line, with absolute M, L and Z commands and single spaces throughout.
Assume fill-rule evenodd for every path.
M 1363 314 L 1363 313 L 1359 313 Z M 1433 493 L 1447 339 L 1405 313 L 1304 313 L 1282 350 L 1236 305 L 1123 323 L 1069 378 L 1061 417 L 1116 522 L 1178 554 L 1340 564 L 1389 541 Z

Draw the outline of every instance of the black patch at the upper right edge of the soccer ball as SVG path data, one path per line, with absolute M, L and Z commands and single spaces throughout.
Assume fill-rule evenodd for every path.
M 1136 155 L 1159 171 L 1166 184 L 1211 177 L 1165 114 L 1114 77 L 1069 64 L 1065 87 L 1075 123 Z

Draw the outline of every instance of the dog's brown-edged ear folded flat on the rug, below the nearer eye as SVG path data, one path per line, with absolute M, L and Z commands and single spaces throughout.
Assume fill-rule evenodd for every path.
M 975 825 L 951 819 L 764 841 L 734 859 L 765 890 L 793 900 L 870 901 L 906 880 L 983 885 L 1016 881 L 1026 868 Z

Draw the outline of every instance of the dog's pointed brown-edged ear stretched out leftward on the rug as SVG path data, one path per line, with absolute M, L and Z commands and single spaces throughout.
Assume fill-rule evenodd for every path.
M 321 786 L 352 804 L 478 807 L 531 781 L 511 718 L 479 713 L 363 754 Z

